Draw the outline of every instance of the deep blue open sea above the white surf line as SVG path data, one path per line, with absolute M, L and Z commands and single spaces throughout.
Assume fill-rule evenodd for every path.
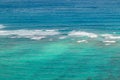
M 119 29 L 119 4 L 119 0 L 1 0 L 0 23 L 20 28 L 52 26 Z

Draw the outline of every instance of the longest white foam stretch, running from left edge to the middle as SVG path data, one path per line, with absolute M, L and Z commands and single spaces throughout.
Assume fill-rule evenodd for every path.
M 30 38 L 40 40 L 46 36 L 60 34 L 57 30 L 0 30 L 0 36 L 9 36 L 10 38 Z

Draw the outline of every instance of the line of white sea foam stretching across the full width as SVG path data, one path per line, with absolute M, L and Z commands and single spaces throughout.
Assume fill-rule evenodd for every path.
M 100 33 L 92 33 L 92 32 L 85 32 L 85 31 L 69 31 L 66 32 L 66 35 L 62 35 L 64 33 L 60 32 L 59 29 L 49 29 L 49 30 L 28 30 L 28 29 L 20 29 L 20 30 L 2 30 L 5 28 L 3 24 L 0 24 L 0 36 L 7 36 L 9 38 L 29 38 L 33 40 L 41 40 L 43 38 L 47 38 L 48 36 L 57 36 L 58 39 L 66 39 L 66 38 L 75 38 L 75 37 L 88 37 L 88 38 L 95 38 L 95 40 L 98 40 L 102 38 L 104 43 L 115 43 L 115 42 L 109 42 L 115 41 L 120 39 L 119 35 L 115 34 L 100 34 Z M 105 42 L 105 40 L 108 40 Z M 77 41 L 78 43 L 86 42 L 85 40 Z

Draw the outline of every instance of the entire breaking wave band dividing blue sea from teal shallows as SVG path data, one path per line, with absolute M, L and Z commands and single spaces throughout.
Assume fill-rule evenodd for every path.
M 41 40 L 48 38 L 49 41 L 55 39 L 59 40 L 73 40 L 77 43 L 88 43 L 90 41 L 102 41 L 105 45 L 115 44 L 119 42 L 119 34 L 110 34 L 105 33 L 101 34 L 100 32 L 93 33 L 87 31 L 66 31 L 62 32 L 59 29 L 19 29 L 19 30 L 5 30 L 6 26 L 0 24 L 0 37 L 7 38 L 28 38 L 32 40 Z M 82 40 L 81 40 L 82 37 Z M 89 40 L 90 39 L 90 40 Z

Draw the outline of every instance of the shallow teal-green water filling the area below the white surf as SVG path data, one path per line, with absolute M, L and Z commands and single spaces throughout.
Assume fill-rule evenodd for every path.
M 0 39 L 0 79 L 119 80 L 120 41 Z

